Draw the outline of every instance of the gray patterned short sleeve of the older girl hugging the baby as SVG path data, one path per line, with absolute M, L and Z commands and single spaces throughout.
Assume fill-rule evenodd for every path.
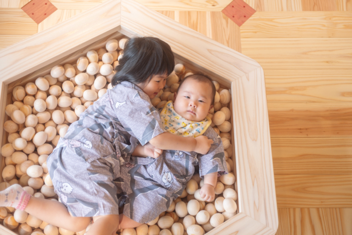
M 160 114 L 140 89 L 119 86 L 110 92 L 110 101 L 118 121 L 141 145 L 164 132 Z M 117 87 L 114 88 L 117 88 Z

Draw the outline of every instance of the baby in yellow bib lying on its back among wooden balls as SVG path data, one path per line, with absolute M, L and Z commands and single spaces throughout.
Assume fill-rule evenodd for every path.
M 206 201 L 214 199 L 217 177 L 228 173 L 221 138 L 207 117 L 214 95 L 215 87 L 205 75 L 191 75 L 180 82 L 174 101 L 166 103 L 160 113 L 164 130 L 191 138 L 204 135 L 213 144 L 206 155 L 166 150 L 156 159 L 132 157 L 129 164 L 121 167 L 121 177 L 115 180 L 120 186 L 119 204 L 125 203 L 124 216 L 141 224 L 155 219 L 182 194 L 197 164 L 200 177 L 204 178 L 200 195 Z

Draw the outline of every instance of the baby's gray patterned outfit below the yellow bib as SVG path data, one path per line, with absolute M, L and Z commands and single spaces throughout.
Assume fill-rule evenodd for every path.
M 138 223 L 154 220 L 182 194 L 195 165 L 199 164 L 201 178 L 213 172 L 227 174 L 221 138 L 211 127 L 204 135 L 214 141 L 206 155 L 165 150 L 156 159 L 131 157 L 130 164 L 121 166 L 115 184 L 120 206 L 125 203 L 123 214 Z

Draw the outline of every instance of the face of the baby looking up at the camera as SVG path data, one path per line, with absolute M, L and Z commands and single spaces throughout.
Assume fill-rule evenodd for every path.
M 174 95 L 177 114 L 190 121 L 201 121 L 211 109 L 211 86 L 206 82 L 188 79 Z

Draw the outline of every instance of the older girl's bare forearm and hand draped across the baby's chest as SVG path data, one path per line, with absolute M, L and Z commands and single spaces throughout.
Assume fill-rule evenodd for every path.
M 149 143 L 162 150 L 194 151 L 207 154 L 213 141 L 206 136 L 190 138 L 164 132 L 152 138 Z

